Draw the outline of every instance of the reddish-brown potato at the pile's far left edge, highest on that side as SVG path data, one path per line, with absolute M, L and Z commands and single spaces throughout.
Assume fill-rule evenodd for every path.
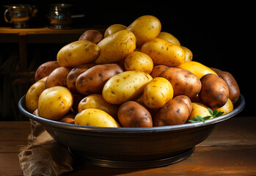
M 35 74 L 34 74 L 34 81 L 39 81 L 42 78 L 45 78 L 46 76 L 50 75 L 51 72 L 55 69 L 59 67 L 58 62 L 56 61 L 49 61 L 49 62 L 45 62 L 42 65 L 40 65 Z

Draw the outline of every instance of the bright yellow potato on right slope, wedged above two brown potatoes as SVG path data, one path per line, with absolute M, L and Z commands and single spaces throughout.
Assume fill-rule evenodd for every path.
M 179 65 L 178 68 L 189 70 L 198 78 L 202 78 L 202 76 L 205 76 L 209 73 L 217 75 L 217 73 L 211 70 L 211 68 L 206 67 L 205 65 L 202 65 L 200 62 L 195 62 L 195 61 L 184 62 L 182 65 Z

